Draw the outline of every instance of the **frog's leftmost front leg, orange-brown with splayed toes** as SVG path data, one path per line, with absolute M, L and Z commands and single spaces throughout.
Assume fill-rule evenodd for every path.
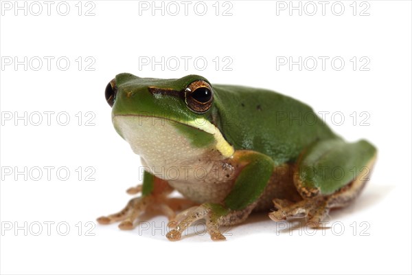
M 167 181 L 159 179 L 145 171 L 143 184 L 127 190 L 129 194 L 141 192 L 142 196 L 130 199 L 123 210 L 108 216 L 100 217 L 97 221 L 100 224 L 121 221 L 121 223 L 119 223 L 119 228 L 122 230 L 130 230 L 134 228 L 134 221 L 137 217 L 146 212 L 149 208 L 160 210 L 168 217 L 168 219 L 173 219 L 178 203 L 176 199 L 169 199 L 167 197 L 172 190 L 172 187 Z

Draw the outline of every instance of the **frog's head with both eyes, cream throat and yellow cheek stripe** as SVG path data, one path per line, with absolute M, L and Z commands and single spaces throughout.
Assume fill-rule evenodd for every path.
M 202 76 L 157 79 L 118 74 L 105 95 L 117 133 L 149 162 L 168 153 L 188 158 L 206 151 L 224 157 L 233 153 L 216 127 L 214 89 Z

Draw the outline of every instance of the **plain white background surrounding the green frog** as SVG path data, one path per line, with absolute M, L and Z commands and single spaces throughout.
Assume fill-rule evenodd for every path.
M 342 1 L 345 10 L 340 16 L 335 14 L 341 4 L 334 4 L 332 12 L 333 1 L 326 5 L 325 15 L 321 4 L 312 2 L 317 7 L 312 16 L 313 5 L 306 2 L 301 2 L 301 15 L 293 10 L 290 16 L 288 1 L 230 1 L 225 6 L 220 2 L 218 16 L 215 1 L 205 2 L 204 16 L 194 12 L 196 2 L 189 5 L 187 16 L 181 2 L 176 16 L 170 15 L 175 6 L 168 2 L 163 3 L 170 8 L 164 16 L 161 10 L 155 16 L 151 10 L 139 10 L 138 1 L 68 1 L 66 16 L 56 11 L 58 1 L 50 15 L 47 5 L 39 2 L 43 12 L 38 16 L 38 5 L 31 2 L 26 2 L 27 15 L 24 10 L 15 15 L 14 1 L 5 2 L 1 1 L 0 19 L 1 166 L 6 169 L 1 181 L 2 274 L 411 273 L 410 1 Z M 64 3 L 59 7 L 65 12 Z M 85 16 L 91 8 L 95 15 Z M 232 15 L 222 16 L 227 8 Z M 363 10 L 369 16 L 361 16 Z M 14 67 L 14 57 L 24 61 L 25 56 L 27 69 Z M 44 56 L 54 58 L 50 70 Z M 175 56 L 181 64 L 176 70 L 175 63 L 152 68 L 140 62 L 145 56 L 157 61 Z M 181 56 L 192 58 L 187 68 Z M 301 56 L 302 62 L 312 56 L 319 62 L 312 71 L 312 63 L 301 70 L 298 65 L 277 68 L 282 56 L 293 61 Z M 329 58 L 324 70 L 319 56 Z M 60 68 L 56 65 L 60 57 L 70 61 L 65 71 L 63 61 Z M 205 69 L 201 63 L 194 66 L 197 57 L 207 61 Z M 229 59 L 223 62 L 225 57 Z M 337 69 L 339 63 L 332 67 L 334 57 L 345 61 L 343 69 Z M 366 59 L 361 62 L 362 57 Z M 38 59 L 43 67 L 36 71 Z M 80 70 L 76 60 L 82 60 Z M 231 71 L 223 69 L 227 60 L 232 61 Z M 368 60 L 363 69 L 369 70 L 361 70 Z M 89 69 L 94 70 L 86 70 L 91 61 L 95 63 Z M 155 78 L 201 74 L 211 83 L 274 89 L 316 111 L 341 112 L 341 125 L 339 117 L 326 118 L 336 133 L 351 141 L 366 138 L 378 147 L 371 181 L 352 206 L 330 213 L 332 228 L 313 236 L 308 230 L 279 232 L 282 224 L 266 214 L 230 228 L 231 236 L 220 243 L 207 234 L 172 243 L 164 229 L 155 234 L 151 227 L 124 232 L 117 225 L 96 225 L 89 232 L 94 236 L 87 236 L 95 218 L 122 208 L 130 197 L 126 188 L 139 183 L 139 157 L 115 133 L 104 99 L 104 87 L 120 72 Z M 54 112 L 50 125 L 45 111 Z M 27 125 L 14 120 L 25 112 Z M 36 112 L 43 113 L 38 126 Z M 56 120 L 60 112 L 69 114 L 67 126 L 59 124 L 65 122 L 64 116 Z M 355 123 L 350 116 L 354 112 Z M 369 114 L 369 126 L 361 125 L 361 112 Z M 86 125 L 89 118 L 94 126 Z M 50 180 L 44 166 L 54 167 Z M 94 181 L 85 180 L 89 166 L 95 170 Z M 15 180 L 16 169 L 25 167 L 32 175 L 27 172 L 27 180 L 24 175 Z M 43 169 L 38 181 L 36 167 Z M 65 181 L 56 176 L 61 167 L 70 171 Z M 144 226 L 161 228 L 166 220 L 148 221 Z M 27 232 L 14 230 L 24 228 L 25 222 Z M 54 223 L 49 234 L 47 222 Z M 38 233 L 39 224 L 43 231 Z M 65 225 L 70 230 L 61 236 Z

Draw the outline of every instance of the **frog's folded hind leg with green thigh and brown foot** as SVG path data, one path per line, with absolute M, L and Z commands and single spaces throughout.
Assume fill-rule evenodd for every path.
M 310 227 L 319 227 L 331 208 L 346 206 L 358 196 L 375 159 L 376 148 L 365 140 L 347 143 L 334 139 L 312 144 L 299 156 L 293 175 L 303 200 L 290 203 L 273 199 L 277 210 L 269 217 L 280 221 L 304 215 Z

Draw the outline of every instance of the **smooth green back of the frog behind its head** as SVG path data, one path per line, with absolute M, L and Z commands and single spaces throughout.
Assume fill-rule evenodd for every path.
M 309 144 L 336 137 L 312 108 L 274 91 L 213 85 L 218 127 L 237 150 L 264 153 L 276 165 L 293 162 Z

